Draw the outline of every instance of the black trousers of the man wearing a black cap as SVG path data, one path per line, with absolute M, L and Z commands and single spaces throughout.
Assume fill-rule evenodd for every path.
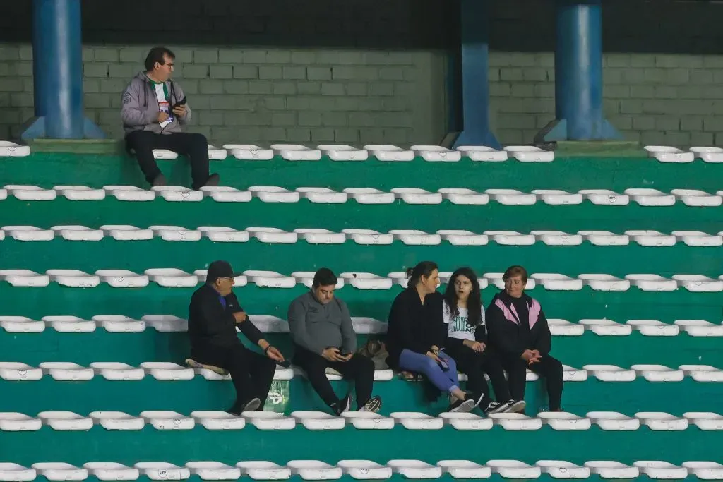
M 276 362 L 249 350 L 241 343 L 231 346 L 204 346 L 191 350 L 191 358 L 204 365 L 218 366 L 231 375 L 236 404 L 244 405 L 257 397 L 263 410 L 276 372 Z

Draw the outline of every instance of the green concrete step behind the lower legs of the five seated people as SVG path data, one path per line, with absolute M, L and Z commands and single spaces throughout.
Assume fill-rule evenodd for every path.
M 291 382 L 274 382 L 275 402 L 267 410 L 327 410 L 302 376 Z M 346 382 L 334 382 L 342 393 Z M 341 386 L 343 385 L 343 386 Z M 526 400 L 529 413 L 547 405 L 543 384 L 528 382 Z M 203 376 L 191 380 L 159 381 L 152 376 L 141 380 L 108 381 L 102 376 L 78 382 L 58 382 L 50 376 L 38 381 L 9 382 L 0 380 L 3 397 L 0 411 L 38 413 L 43 410 L 69 410 L 90 413 L 95 410 L 140 413 L 143 410 L 174 410 L 189 414 L 194 410 L 226 410 L 234 403 L 230 381 L 210 381 Z M 445 410 L 446 397 L 435 403 L 423 398 L 422 386 L 395 378 L 375 382 L 374 392 L 382 397 L 382 413 L 421 411 L 437 414 Z M 632 415 L 644 412 L 719 411 L 717 400 L 723 396 L 723 383 L 696 382 L 685 377 L 682 382 L 648 382 L 637 377 L 633 382 L 600 382 L 589 376 L 584 382 L 565 382 L 562 407 L 584 414 L 590 411 L 619 411 Z

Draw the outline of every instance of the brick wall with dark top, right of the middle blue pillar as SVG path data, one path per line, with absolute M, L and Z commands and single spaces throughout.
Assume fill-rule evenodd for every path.
M 607 119 L 643 145 L 723 146 L 723 4 L 604 3 Z M 546 2 L 493 7 L 490 121 L 501 142 L 530 142 L 555 118 L 555 17 Z

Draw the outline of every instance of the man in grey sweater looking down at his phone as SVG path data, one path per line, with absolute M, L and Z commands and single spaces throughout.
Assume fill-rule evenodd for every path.
M 346 303 L 335 298 L 337 278 L 328 268 L 314 275 L 312 289 L 288 307 L 288 327 L 294 342 L 294 363 L 307 372 L 314 390 L 336 415 L 351 409 L 351 394 L 338 398 L 326 369 L 338 371 L 345 379 L 354 379 L 356 408 L 377 412 L 380 397 L 372 397 L 374 362 L 355 354 L 356 333 Z

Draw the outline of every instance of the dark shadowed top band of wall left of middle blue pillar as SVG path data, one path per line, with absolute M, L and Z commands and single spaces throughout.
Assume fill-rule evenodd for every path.
M 83 43 L 446 49 L 458 9 L 445 0 L 82 0 Z M 32 2 L 0 1 L 0 41 L 32 41 Z

